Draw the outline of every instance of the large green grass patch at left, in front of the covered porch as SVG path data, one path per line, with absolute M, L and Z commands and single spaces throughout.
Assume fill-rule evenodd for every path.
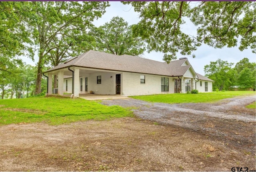
M 60 125 L 76 121 L 131 117 L 128 108 L 105 106 L 85 99 L 33 97 L 0 100 L 0 125 L 45 121 Z

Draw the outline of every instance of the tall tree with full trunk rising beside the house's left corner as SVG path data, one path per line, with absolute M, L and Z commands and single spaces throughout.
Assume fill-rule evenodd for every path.
M 24 10 L 30 12 L 26 23 L 32 30 L 32 39 L 38 48 L 38 69 L 35 93 L 41 93 L 42 69 L 48 53 L 55 47 L 50 43 L 64 30 L 85 30 L 91 22 L 101 17 L 108 2 L 30 2 Z

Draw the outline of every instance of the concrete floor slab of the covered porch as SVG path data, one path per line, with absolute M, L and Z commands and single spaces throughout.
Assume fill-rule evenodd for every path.
M 71 94 L 64 94 L 70 96 Z M 79 97 L 86 100 L 106 100 L 106 99 L 130 99 L 122 95 L 101 95 L 101 94 L 79 94 Z

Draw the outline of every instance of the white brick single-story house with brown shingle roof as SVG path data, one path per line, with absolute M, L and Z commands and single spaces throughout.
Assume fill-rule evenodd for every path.
M 186 93 L 193 89 L 212 92 L 212 81 L 196 73 L 186 57 L 166 62 L 132 55 L 87 51 L 44 72 L 48 94 L 52 75 L 58 75 L 58 95 L 90 93 L 123 96 Z M 46 76 L 46 75 L 45 75 Z

